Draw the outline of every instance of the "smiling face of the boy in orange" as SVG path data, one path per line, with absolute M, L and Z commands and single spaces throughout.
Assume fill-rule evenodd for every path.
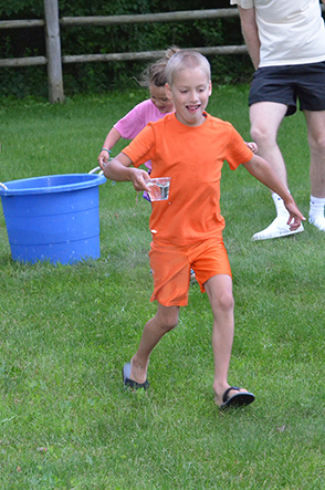
M 167 95 L 174 100 L 176 117 L 186 126 L 200 126 L 211 95 L 211 81 L 200 67 L 181 70 L 172 85 L 166 84 Z

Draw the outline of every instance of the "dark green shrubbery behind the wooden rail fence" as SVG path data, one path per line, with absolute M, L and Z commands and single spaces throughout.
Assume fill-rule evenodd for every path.
M 115 15 L 157 13 L 179 10 L 200 10 L 229 7 L 221 1 L 172 1 L 172 0 L 117 0 L 102 2 L 82 0 L 77 4 L 67 0 L 59 1 L 60 17 Z M 0 0 L 2 19 L 42 19 L 41 0 Z M 23 58 L 46 55 L 44 30 L 42 28 L 8 29 L 0 31 L 0 58 Z M 211 19 L 184 22 L 154 22 L 111 27 L 61 28 L 62 54 L 96 54 L 117 52 L 141 52 L 165 50 L 171 44 L 180 48 L 199 48 L 241 44 L 239 19 Z M 212 65 L 213 81 L 234 83 L 247 81 L 252 72 L 248 55 L 208 56 Z M 147 62 L 96 62 L 63 65 L 64 92 L 103 92 L 125 88 L 134 83 Z M 132 82 L 133 81 L 133 82 Z M 0 95 L 41 95 L 48 93 L 46 67 L 1 69 Z

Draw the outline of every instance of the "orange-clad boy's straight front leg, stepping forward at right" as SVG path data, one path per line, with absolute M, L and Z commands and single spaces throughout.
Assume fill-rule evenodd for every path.
M 230 275 L 213 275 L 205 283 L 213 313 L 212 348 L 214 357 L 213 389 L 216 404 L 222 405 L 222 395 L 229 388 L 228 369 L 233 341 L 234 301 L 232 295 L 232 279 Z M 245 389 L 240 389 L 247 392 Z M 235 395 L 231 390 L 229 396 Z

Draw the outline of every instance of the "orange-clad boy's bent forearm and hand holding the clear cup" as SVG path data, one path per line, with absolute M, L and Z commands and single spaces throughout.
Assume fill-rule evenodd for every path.
M 132 165 L 132 159 L 124 153 L 119 153 L 117 157 L 104 166 L 104 175 L 109 180 L 132 181 L 135 190 L 149 191 L 150 189 L 145 184 L 145 180 L 150 178 L 148 173 L 140 168 L 130 167 Z

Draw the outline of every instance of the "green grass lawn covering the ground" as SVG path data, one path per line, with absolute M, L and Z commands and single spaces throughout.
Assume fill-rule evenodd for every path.
M 1 101 L 0 180 L 88 171 L 112 124 L 144 96 Z M 216 87 L 209 112 L 249 140 L 247 98 L 248 86 Z M 307 215 L 301 114 L 280 142 Z M 155 313 L 149 205 L 130 184 L 99 186 L 96 261 L 13 262 L 0 215 L 1 490 L 325 488 L 325 236 L 306 223 L 252 242 L 274 209 L 243 168 L 226 165 L 221 206 L 235 299 L 229 380 L 256 395 L 229 414 L 213 404 L 212 316 L 197 285 L 151 355 L 147 395 L 123 388 L 122 366 Z

